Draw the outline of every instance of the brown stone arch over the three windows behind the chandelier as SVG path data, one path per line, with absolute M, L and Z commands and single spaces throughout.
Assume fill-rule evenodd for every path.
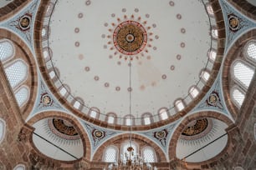
M 95 151 L 92 161 L 94 161 L 94 162 L 101 161 L 102 160 L 102 151 L 104 151 L 105 148 L 107 148 L 108 146 L 114 145 L 117 148 L 121 148 L 121 144 L 123 143 L 123 141 L 129 141 L 129 139 L 130 139 L 130 133 L 120 134 L 114 138 L 110 138 L 105 143 L 102 143 L 100 148 L 98 148 Z M 139 148 L 143 148 L 145 146 L 149 146 L 149 147 L 153 148 L 156 152 L 156 158 L 158 158 L 159 162 L 167 161 L 165 153 L 163 153 L 161 148 L 159 148 L 158 145 L 156 145 L 156 143 L 151 141 L 149 138 L 145 138 L 141 135 L 132 133 L 131 140 L 133 142 L 136 142 L 138 144 Z

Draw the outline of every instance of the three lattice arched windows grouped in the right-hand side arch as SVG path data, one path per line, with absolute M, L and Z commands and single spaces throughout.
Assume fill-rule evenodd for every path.
M 231 98 L 237 107 L 241 107 L 256 67 L 256 41 L 251 40 L 243 47 L 243 57 L 235 60 L 231 65 L 233 87 Z

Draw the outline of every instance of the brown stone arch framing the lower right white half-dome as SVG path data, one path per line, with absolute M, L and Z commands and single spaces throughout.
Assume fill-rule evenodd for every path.
M 180 134 L 182 133 L 183 128 L 185 128 L 189 122 L 192 122 L 193 120 L 197 120 L 199 118 L 204 118 L 204 117 L 212 117 L 222 122 L 226 122 L 228 127 L 233 124 L 233 122 L 228 117 L 224 116 L 221 113 L 212 112 L 212 111 L 197 112 L 195 114 L 192 114 L 191 116 L 186 117 L 184 120 L 182 120 L 182 122 L 178 125 L 178 127 L 175 129 L 174 133 L 172 134 L 172 140 L 169 144 L 169 152 L 168 152 L 170 160 L 172 160 L 173 158 L 176 158 L 177 140 Z

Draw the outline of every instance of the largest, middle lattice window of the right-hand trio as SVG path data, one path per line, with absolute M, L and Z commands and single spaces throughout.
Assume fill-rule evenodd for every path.
M 253 74 L 253 69 L 243 62 L 236 61 L 233 63 L 233 76 L 246 88 L 249 86 L 253 78 Z

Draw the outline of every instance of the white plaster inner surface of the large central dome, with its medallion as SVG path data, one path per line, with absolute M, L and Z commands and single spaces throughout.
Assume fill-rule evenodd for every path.
M 129 22 L 135 27 L 125 28 Z M 118 117 L 129 114 L 130 81 L 136 117 L 186 97 L 206 67 L 212 41 L 205 6 L 197 0 L 58 1 L 49 28 L 60 81 L 84 106 Z M 119 29 L 130 32 L 127 42 L 115 42 Z M 128 43 L 139 38 L 143 45 Z M 128 48 L 134 52 L 122 52 Z

